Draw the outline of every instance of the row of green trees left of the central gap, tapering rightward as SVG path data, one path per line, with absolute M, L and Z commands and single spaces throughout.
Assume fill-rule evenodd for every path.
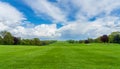
M 13 36 L 8 31 L 0 32 L 0 45 L 48 45 L 56 42 L 55 40 L 44 40 L 41 41 L 39 38 L 33 39 L 21 39 L 20 37 Z

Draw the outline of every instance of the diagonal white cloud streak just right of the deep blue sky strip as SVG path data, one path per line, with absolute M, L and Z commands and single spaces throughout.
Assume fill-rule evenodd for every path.
M 31 6 L 37 15 L 41 16 L 44 14 L 41 17 L 47 15 L 49 16 L 48 19 L 50 18 L 57 22 L 64 22 L 66 19 L 65 14 L 62 12 L 62 10 L 47 0 L 25 0 L 25 2 Z

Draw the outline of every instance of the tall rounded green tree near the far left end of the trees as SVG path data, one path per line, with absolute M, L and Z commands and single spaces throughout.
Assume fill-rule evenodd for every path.
M 6 32 L 3 37 L 3 43 L 5 45 L 12 45 L 14 44 L 14 38 L 10 32 Z

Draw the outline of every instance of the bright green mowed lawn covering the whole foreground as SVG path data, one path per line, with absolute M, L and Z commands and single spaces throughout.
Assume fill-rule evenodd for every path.
M 120 69 L 120 45 L 1 45 L 0 69 Z

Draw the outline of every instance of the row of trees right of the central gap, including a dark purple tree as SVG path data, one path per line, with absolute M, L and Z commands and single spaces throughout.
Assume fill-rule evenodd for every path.
M 69 43 L 119 43 L 120 44 L 120 32 L 112 32 L 110 35 L 102 35 L 95 39 L 88 38 L 87 40 L 67 40 Z

